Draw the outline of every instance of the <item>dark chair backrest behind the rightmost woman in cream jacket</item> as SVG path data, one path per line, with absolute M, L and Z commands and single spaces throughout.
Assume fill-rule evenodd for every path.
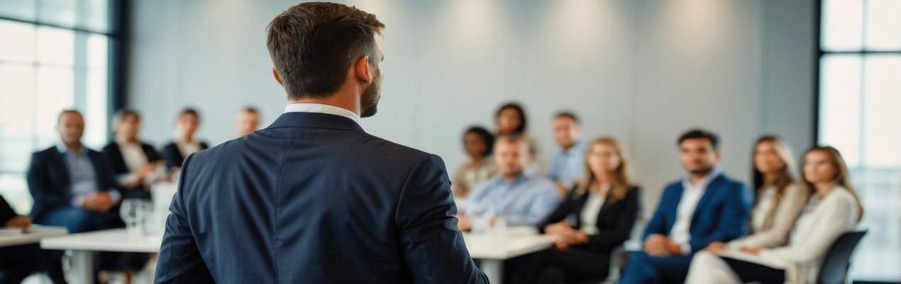
M 867 234 L 867 230 L 849 232 L 839 236 L 833 247 L 826 252 L 823 266 L 820 267 L 819 284 L 843 284 L 848 276 L 848 268 L 851 266 L 851 252 L 860 243 L 860 238 Z

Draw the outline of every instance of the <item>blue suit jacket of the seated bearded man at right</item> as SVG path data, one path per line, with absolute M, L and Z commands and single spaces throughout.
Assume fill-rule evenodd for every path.
M 682 199 L 682 181 L 663 190 L 660 205 L 648 223 L 642 239 L 651 234 L 669 235 L 676 223 L 678 203 Z M 710 180 L 704 196 L 697 202 L 688 232 L 691 252 L 695 253 L 714 241 L 729 242 L 744 234 L 744 224 L 751 211 L 751 190 L 724 174 Z

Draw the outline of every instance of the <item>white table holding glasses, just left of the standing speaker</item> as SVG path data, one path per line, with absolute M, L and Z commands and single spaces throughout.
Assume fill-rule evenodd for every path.
M 69 234 L 41 240 L 41 249 L 71 250 L 72 283 L 94 283 L 95 252 L 159 252 L 162 239 L 136 236 L 130 238 L 124 228 Z

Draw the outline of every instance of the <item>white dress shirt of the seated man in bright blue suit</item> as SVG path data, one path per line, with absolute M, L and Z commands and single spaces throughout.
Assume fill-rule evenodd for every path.
M 682 180 L 682 198 L 678 201 L 676 209 L 676 223 L 669 230 L 669 241 L 678 244 L 682 254 L 691 252 L 691 219 L 695 215 L 697 203 L 704 197 L 710 180 L 723 172 L 718 166 L 711 170 L 704 179 L 696 184 L 691 184 L 691 177 Z

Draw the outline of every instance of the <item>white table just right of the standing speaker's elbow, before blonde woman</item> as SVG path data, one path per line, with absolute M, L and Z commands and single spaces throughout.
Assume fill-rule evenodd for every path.
M 550 248 L 554 241 L 543 234 L 495 236 L 463 234 L 469 256 L 481 260 L 479 269 L 489 283 L 504 283 L 504 261 Z

